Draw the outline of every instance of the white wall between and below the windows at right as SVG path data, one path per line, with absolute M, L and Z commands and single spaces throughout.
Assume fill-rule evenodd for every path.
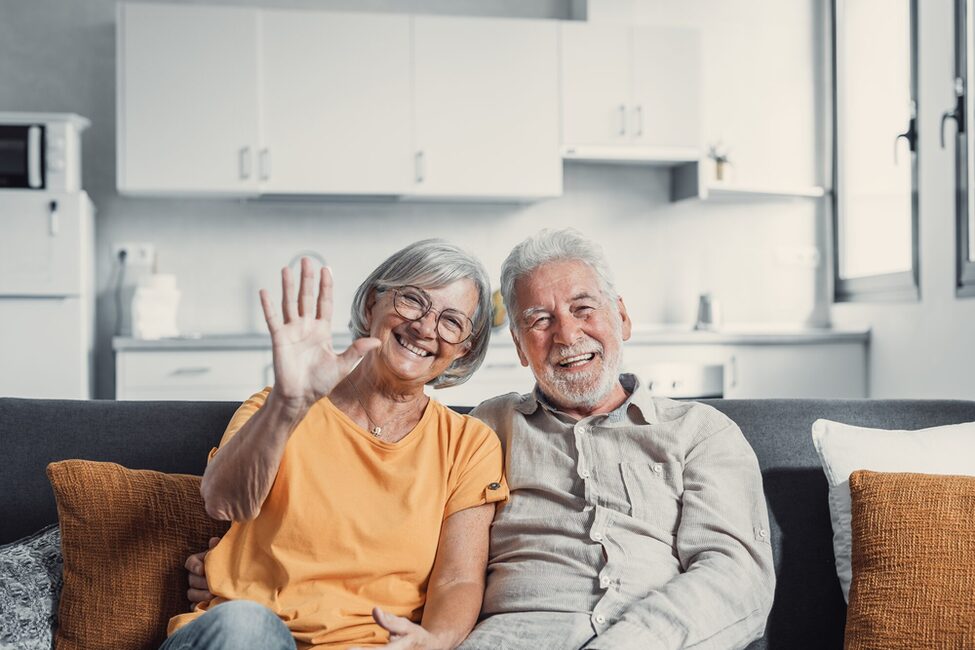
M 833 321 L 872 325 L 871 397 L 975 399 L 975 298 L 954 290 L 955 150 L 941 149 L 938 136 L 941 113 L 954 106 L 953 2 L 918 5 L 921 300 L 837 304 Z

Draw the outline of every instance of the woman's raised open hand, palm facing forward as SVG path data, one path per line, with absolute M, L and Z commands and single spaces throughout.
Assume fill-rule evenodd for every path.
M 317 291 L 316 291 L 317 289 Z M 301 259 L 297 299 L 291 269 L 281 269 L 281 312 L 261 289 L 261 307 L 271 333 L 274 394 L 283 404 L 306 411 L 345 378 L 367 352 L 379 347 L 375 338 L 361 338 L 341 354 L 332 350 L 332 273 L 322 267 L 316 281 L 311 261 Z

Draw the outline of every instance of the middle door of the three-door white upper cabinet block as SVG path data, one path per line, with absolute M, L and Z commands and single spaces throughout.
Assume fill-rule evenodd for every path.
M 410 29 L 402 15 L 261 13 L 262 193 L 411 189 Z

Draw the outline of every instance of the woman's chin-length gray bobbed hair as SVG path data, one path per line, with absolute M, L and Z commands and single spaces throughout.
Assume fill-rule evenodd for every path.
M 369 274 L 352 298 L 349 330 L 353 338 L 369 336 L 369 298 L 406 285 L 439 289 L 457 280 L 471 280 L 477 288 L 477 309 L 471 321 L 471 349 L 427 382 L 434 388 L 467 381 L 484 361 L 491 336 L 491 283 L 484 265 L 470 253 L 442 239 L 424 239 L 396 251 Z

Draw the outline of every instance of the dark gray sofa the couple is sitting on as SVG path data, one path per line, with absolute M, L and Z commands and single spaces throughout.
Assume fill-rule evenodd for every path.
M 778 585 L 765 636 L 751 647 L 841 648 L 846 605 L 833 566 L 813 421 L 917 429 L 975 421 L 975 401 L 704 401 L 739 424 L 765 480 Z M 236 406 L 0 399 L 0 544 L 57 521 L 48 463 L 84 458 L 201 474 Z

